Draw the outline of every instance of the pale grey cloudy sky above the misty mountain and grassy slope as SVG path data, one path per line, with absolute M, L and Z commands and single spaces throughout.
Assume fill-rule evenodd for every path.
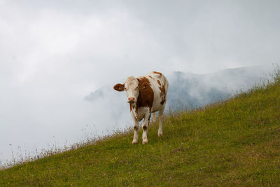
M 98 107 L 84 97 L 127 76 L 278 63 L 279 7 L 0 0 L 0 160 L 116 129 L 113 119 L 96 124 Z

